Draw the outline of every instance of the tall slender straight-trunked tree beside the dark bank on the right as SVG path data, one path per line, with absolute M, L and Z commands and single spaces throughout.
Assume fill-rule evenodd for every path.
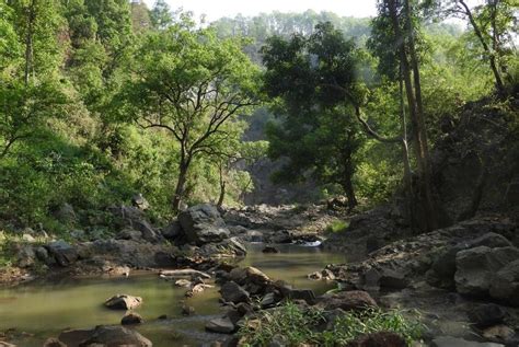
M 422 81 L 419 73 L 419 53 L 417 48 L 417 11 L 412 8 L 410 0 L 382 0 L 378 4 L 379 15 L 374 20 L 374 35 L 371 47 L 379 53 L 381 70 L 390 78 L 397 78 L 401 82 L 401 97 L 405 90 L 407 109 L 411 119 L 411 138 L 417 163 L 417 201 L 423 209 L 417 217 L 424 230 L 438 228 L 437 207 L 432 196 L 429 147 L 425 126 L 424 105 L 422 97 Z M 384 41 L 379 41 L 381 37 Z M 382 47 L 382 42 L 390 43 Z M 373 44 L 374 43 L 374 44 Z M 406 186 L 411 192 L 411 174 L 408 155 L 406 154 L 406 125 L 403 117 L 404 101 L 401 99 L 402 130 L 404 131 L 403 149 L 406 167 Z M 414 194 L 408 195 L 414 199 Z M 413 203 L 410 204 L 414 205 Z

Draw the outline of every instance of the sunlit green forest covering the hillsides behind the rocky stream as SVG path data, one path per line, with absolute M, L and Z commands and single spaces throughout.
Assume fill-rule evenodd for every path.
M 355 208 L 405 187 L 434 216 L 428 150 L 442 127 L 470 101 L 517 93 L 517 10 L 378 11 L 199 23 L 162 0 L 0 0 L 2 225 L 65 231 L 64 206 L 102 224 L 136 194 L 158 221 L 240 205 L 265 180 L 257 162 L 277 183 L 310 183 L 305 200 L 344 194 Z

